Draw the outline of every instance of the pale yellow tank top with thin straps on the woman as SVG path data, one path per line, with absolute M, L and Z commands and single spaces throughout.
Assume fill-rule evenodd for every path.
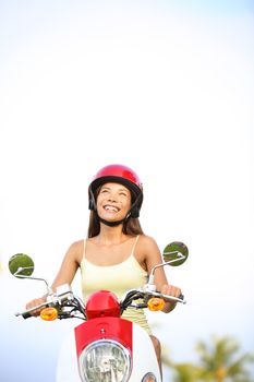
M 81 280 L 84 301 L 96 290 L 110 290 L 119 299 L 123 294 L 133 288 L 138 288 L 147 282 L 147 272 L 141 266 L 134 256 L 134 249 L 138 236 L 132 248 L 132 252 L 123 262 L 114 265 L 96 265 L 85 256 L 86 240 L 84 240 L 84 254 L 81 262 Z M 143 309 L 128 308 L 123 319 L 140 324 L 152 334 Z

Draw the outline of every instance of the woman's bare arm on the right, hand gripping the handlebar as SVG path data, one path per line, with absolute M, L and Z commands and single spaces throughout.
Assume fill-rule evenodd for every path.
M 148 273 L 150 273 L 152 268 L 155 265 L 161 263 L 164 260 L 160 254 L 159 248 L 153 238 L 145 236 L 142 240 L 142 244 L 143 244 L 142 250 L 144 250 L 144 253 L 145 253 L 145 262 L 146 262 L 147 271 Z M 181 289 L 179 287 L 169 285 L 165 273 L 165 268 L 162 266 L 158 267 L 155 271 L 155 285 L 157 290 L 165 295 L 170 295 L 173 297 L 179 297 L 181 295 Z M 169 313 L 171 310 L 176 308 L 176 306 L 177 306 L 177 302 L 174 301 L 166 302 L 164 312 Z

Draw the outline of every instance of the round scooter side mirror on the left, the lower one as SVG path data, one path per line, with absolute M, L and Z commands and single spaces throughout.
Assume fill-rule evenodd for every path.
M 9 260 L 9 270 L 17 278 L 29 278 L 34 268 L 34 261 L 25 253 L 13 254 Z

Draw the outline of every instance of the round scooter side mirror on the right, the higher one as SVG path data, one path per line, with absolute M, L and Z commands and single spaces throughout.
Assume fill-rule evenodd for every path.
M 178 266 L 183 264 L 188 256 L 189 250 L 188 247 L 181 241 L 173 241 L 170 244 L 166 246 L 162 252 L 165 263 Z

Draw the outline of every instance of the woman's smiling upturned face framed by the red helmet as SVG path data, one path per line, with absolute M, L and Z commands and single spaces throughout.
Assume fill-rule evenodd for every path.
M 131 191 L 120 183 L 105 183 L 97 196 L 97 213 L 108 222 L 123 219 L 131 208 Z

